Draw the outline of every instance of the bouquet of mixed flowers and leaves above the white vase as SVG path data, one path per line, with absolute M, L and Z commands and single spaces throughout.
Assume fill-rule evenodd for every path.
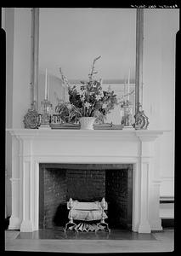
M 80 117 L 95 117 L 97 123 L 104 123 L 106 114 L 117 104 L 117 98 L 113 90 L 102 89 L 102 80 L 93 79 L 93 75 L 97 72 L 94 71 L 95 61 L 99 60 L 95 58 L 93 60 L 93 66 L 91 73 L 88 74 L 88 81 L 71 87 L 67 84 L 67 79 L 61 72 L 63 82 L 65 81 L 68 88 L 69 102 L 59 102 L 55 110 L 59 113 L 62 119 L 69 122 L 77 122 Z M 66 118 L 65 118 L 66 116 Z

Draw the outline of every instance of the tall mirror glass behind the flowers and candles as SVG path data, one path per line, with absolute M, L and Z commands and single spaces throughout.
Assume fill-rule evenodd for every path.
M 40 8 L 33 20 L 36 17 L 38 29 L 34 29 L 34 38 L 39 42 L 34 42 L 38 47 L 33 52 L 38 56 L 34 61 L 38 86 L 34 87 L 32 98 L 37 99 L 37 112 L 44 98 L 46 69 L 48 97 L 54 112 L 57 97 L 64 99 L 65 95 L 59 67 L 70 84 L 80 84 L 81 80 L 88 80 L 93 59 L 98 55 L 101 58 L 96 63 L 96 79 L 103 79 L 103 90 L 110 85 L 121 100 L 129 84 L 129 91 L 133 92 L 129 99 L 137 108 L 142 84 L 142 9 Z M 110 113 L 108 122 L 120 124 L 120 106 Z

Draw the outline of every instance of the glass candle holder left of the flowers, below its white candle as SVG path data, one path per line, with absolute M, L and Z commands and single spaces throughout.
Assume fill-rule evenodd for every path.
M 52 104 L 47 99 L 44 99 L 41 102 L 41 119 L 40 119 L 40 127 L 39 128 L 47 128 L 51 129 L 50 119 L 51 119 L 51 113 L 52 113 Z

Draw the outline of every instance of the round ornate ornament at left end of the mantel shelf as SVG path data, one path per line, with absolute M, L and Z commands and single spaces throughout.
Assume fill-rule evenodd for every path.
M 26 129 L 37 129 L 39 126 L 39 115 L 35 110 L 35 102 L 31 104 L 31 108 L 28 109 L 28 113 L 24 116 L 24 125 Z

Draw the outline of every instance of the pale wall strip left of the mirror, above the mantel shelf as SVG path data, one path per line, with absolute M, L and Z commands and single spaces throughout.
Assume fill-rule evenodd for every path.
M 31 9 L 14 9 L 13 127 L 23 128 L 31 107 Z

